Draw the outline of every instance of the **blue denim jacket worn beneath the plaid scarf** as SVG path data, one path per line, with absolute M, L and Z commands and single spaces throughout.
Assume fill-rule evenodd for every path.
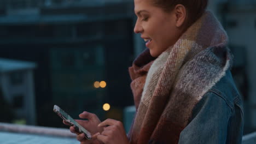
M 243 103 L 230 71 L 210 89 L 193 109 L 179 143 L 241 143 Z

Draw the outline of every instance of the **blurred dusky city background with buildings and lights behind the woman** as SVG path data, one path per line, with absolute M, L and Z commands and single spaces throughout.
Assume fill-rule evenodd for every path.
M 208 9 L 230 38 L 248 134 L 256 131 L 256 1 L 210 0 Z M 0 0 L 0 122 L 67 128 L 53 112 L 59 105 L 127 131 L 128 67 L 145 49 L 135 21 L 132 0 Z

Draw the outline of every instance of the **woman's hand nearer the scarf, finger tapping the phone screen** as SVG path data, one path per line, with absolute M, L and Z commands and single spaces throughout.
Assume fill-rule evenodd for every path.
M 123 123 L 114 119 L 107 119 L 98 124 L 98 127 L 104 127 L 101 134 L 97 134 L 97 139 L 105 144 L 128 144 L 128 138 L 125 133 Z

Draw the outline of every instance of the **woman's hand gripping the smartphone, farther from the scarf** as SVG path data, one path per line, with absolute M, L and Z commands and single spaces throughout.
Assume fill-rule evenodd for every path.
M 70 127 L 71 133 L 77 134 L 77 140 L 81 142 L 81 144 L 89 144 L 89 143 L 101 143 L 100 141 L 97 140 L 97 135 L 100 134 L 103 131 L 103 128 L 97 127 L 99 123 L 101 123 L 100 119 L 94 114 L 90 112 L 84 111 L 79 115 L 80 118 L 82 119 L 88 119 L 86 120 L 80 120 L 80 119 L 75 119 L 82 127 L 84 127 L 86 130 L 88 130 L 91 135 L 92 139 L 87 140 L 82 133 L 78 133 L 78 131 L 75 131 L 74 127 Z M 69 125 L 67 122 L 63 121 L 64 124 Z

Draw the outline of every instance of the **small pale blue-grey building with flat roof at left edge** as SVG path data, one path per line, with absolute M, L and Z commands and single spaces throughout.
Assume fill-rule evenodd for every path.
M 13 107 L 15 119 L 36 125 L 36 100 L 34 97 L 32 62 L 0 58 L 0 86 L 3 97 Z M 3 116 L 4 117 L 4 116 Z

